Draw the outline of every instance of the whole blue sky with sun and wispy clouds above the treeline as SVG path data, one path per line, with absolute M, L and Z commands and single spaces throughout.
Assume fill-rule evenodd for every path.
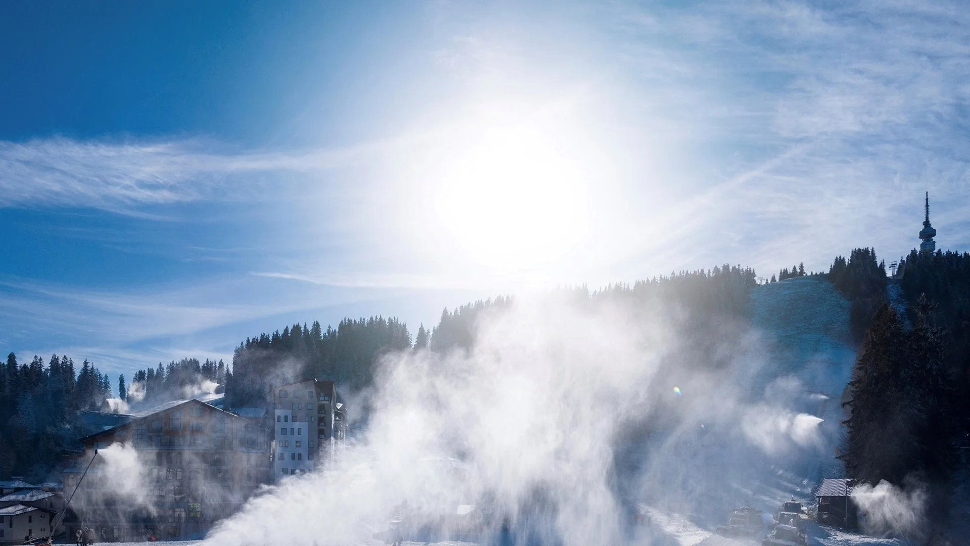
M 959 2 L 0 6 L 0 341 L 284 324 L 970 243 Z

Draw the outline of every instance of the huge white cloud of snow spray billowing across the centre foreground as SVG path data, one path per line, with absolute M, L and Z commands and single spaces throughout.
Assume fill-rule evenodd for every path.
M 504 522 L 566 546 L 623 543 L 631 504 L 720 487 L 685 486 L 695 469 L 667 454 L 712 438 L 747 438 L 766 456 L 821 441 L 820 419 L 748 403 L 743 386 L 692 360 L 668 317 L 522 298 L 485 313 L 470 352 L 389 355 L 367 431 L 328 471 L 285 478 L 250 500 L 208 544 L 345 544 L 372 537 L 396 513 L 454 529 L 471 520 L 486 533 Z M 717 351 L 736 351 L 736 363 L 750 367 L 758 348 Z M 674 370 L 683 395 L 666 385 Z M 644 429 L 652 432 L 637 436 Z M 644 465 L 632 469 L 617 462 L 630 434 L 645 446 L 636 456 Z M 727 451 L 711 454 L 735 463 Z M 647 486 L 651 475 L 681 483 L 665 493 Z M 633 485 L 621 491 L 621 482 Z M 459 505 L 475 509 L 463 520 Z

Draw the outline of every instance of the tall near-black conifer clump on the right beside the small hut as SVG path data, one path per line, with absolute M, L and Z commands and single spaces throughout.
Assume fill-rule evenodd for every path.
M 942 482 L 953 469 L 954 383 L 942 331 L 928 322 L 931 309 L 921 298 L 907 329 L 883 303 L 866 332 L 845 402 L 851 417 L 842 460 L 857 482 Z

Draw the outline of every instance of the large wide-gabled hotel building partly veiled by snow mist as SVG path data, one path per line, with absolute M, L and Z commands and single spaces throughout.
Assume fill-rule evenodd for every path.
M 81 438 L 83 454 L 68 461 L 65 495 L 77 487 L 64 524 L 69 538 L 81 527 L 95 529 L 105 541 L 197 533 L 269 481 L 272 432 L 266 427 L 199 400 L 170 402 L 133 417 Z M 95 457 L 95 450 L 114 444 L 134 448 L 137 463 L 124 471 L 137 474 L 126 478 L 135 486 L 125 481 L 119 487 L 118 477 L 109 475 L 119 467 Z

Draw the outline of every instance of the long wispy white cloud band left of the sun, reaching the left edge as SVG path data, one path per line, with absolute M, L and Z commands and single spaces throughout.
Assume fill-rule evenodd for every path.
M 232 181 L 352 165 L 372 147 L 219 152 L 203 139 L 124 143 L 67 138 L 0 142 L 0 206 L 133 207 L 225 196 Z M 238 186 L 236 187 L 238 189 Z

